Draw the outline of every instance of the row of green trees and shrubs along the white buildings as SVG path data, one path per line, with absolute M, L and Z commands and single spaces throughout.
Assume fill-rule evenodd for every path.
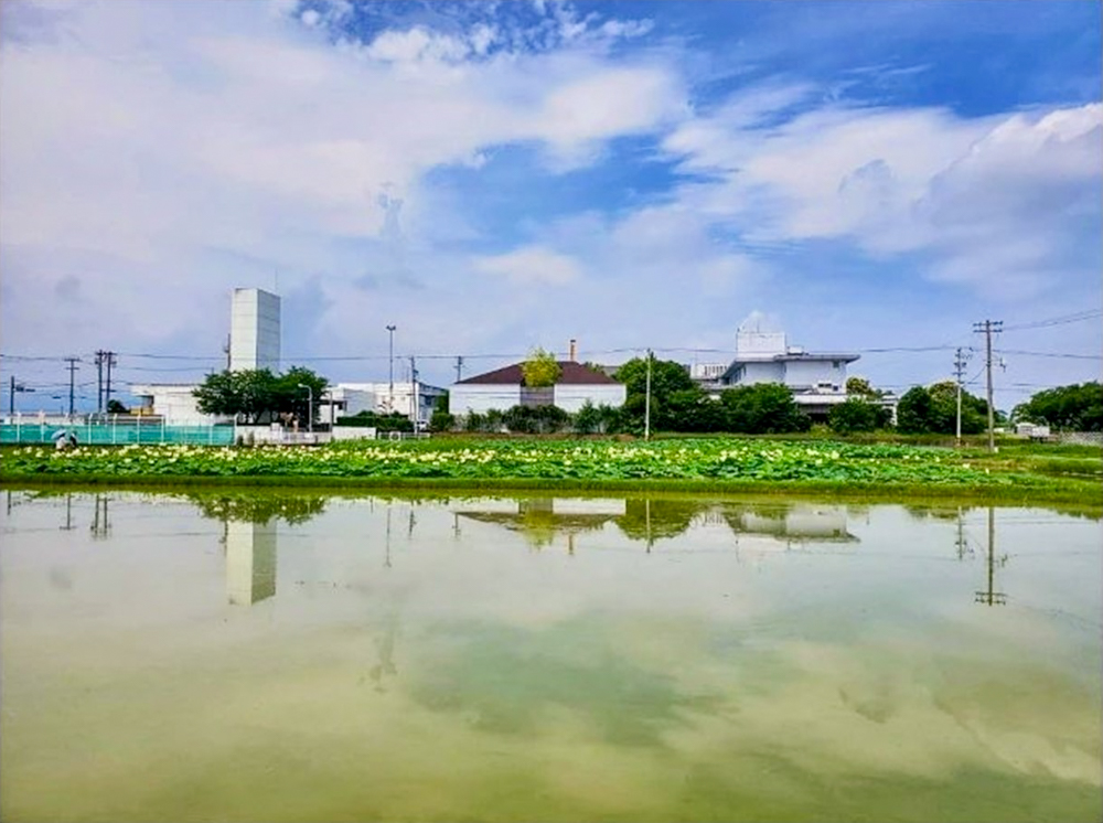
M 539 353 L 538 353 L 539 354 Z M 552 361 L 548 363 L 547 361 Z M 558 366 L 550 355 L 533 357 L 526 384 L 552 385 Z M 625 400 L 618 407 L 585 405 L 568 414 L 556 406 L 514 406 L 484 414 L 451 414 L 447 395 L 438 400 L 430 419 L 432 431 L 502 431 L 521 434 L 630 434 L 644 431 L 647 399 L 647 360 L 635 357 L 614 373 L 624 384 Z M 306 387 L 310 387 L 310 392 Z M 283 374 L 267 368 L 224 371 L 207 375 L 195 389 L 199 409 L 233 417 L 239 423 L 265 424 L 298 419 L 317 420 L 318 406 L 328 381 L 309 368 L 296 366 Z M 893 429 L 901 434 L 952 435 L 957 420 L 957 386 L 943 381 L 914 386 L 897 404 L 897 420 L 882 403 L 886 395 L 868 381 L 847 380 L 847 399 L 827 415 L 827 427 L 840 435 Z M 310 408 L 308 409 L 308 406 Z M 984 398 L 962 392 L 962 432 L 975 435 L 987 428 Z M 685 434 L 788 434 L 807 431 L 812 419 L 793 399 L 792 392 L 775 383 L 735 386 L 710 396 L 675 361 L 651 360 L 650 416 L 652 431 Z M 994 410 L 997 424 L 1007 416 Z M 1035 394 L 1015 407 L 1011 420 L 1048 425 L 1054 430 L 1103 430 L 1103 387 L 1099 382 L 1061 386 Z M 362 412 L 342 423 L 375 426 L 379 430 L 409 431 L 405 415 Z

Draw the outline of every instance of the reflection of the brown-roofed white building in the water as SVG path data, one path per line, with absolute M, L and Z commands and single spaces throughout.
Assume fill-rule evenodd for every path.
M 550 545 L 557 535 L 565 535 L 570 553 L 574 553 L 575 535 L 601 528 L 609 521 L 623 516 L 624 511 L 623 500 L 604 498 L 486 500 L 453 510 L 461 517 L 521 532 L 535 546 Z

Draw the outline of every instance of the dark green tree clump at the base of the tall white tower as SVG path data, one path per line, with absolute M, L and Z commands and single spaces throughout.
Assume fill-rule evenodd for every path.
M 310 392 L 300 388 L 310 386 Z M 200 412 L 225 415 L 239 423 L 274 423 L 291 416 L 306 423 L 318 419 L 318 405 L 329 385 L 309 368 L 293 366 L 282 375 L 268 368 L 243 368 L 208 374 L 193 394 Z

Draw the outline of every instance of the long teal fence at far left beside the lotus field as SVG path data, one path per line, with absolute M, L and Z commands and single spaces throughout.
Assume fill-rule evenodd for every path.
M 96 423 L 57 423 L 15 419 L 0 425 L 0 443 L 49 443 L 64 435 L 76 435 L 81 446 L 126 446 L 128 443 L 173 443 L 189 446 L 231 446 L 234 426 L 170 426 L 163 420 L 131 418 Z

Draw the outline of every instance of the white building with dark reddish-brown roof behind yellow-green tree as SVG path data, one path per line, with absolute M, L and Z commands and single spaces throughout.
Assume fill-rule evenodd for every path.
M 454 415 L 467 415 L 472 412 L 485 414 L 492 408 L 504 412 L 513 406 L 554 405 L 564 412 L 575 413 L 587 400 L 595 406 L 620 406 L 624 403 L 623 383 L 572 360 L 560 360 L 558 363 L 561 370 L 559 380 L 547 388 L 525 386 L 521 363 L 453 383 L 449 389 L 448 408 Z

